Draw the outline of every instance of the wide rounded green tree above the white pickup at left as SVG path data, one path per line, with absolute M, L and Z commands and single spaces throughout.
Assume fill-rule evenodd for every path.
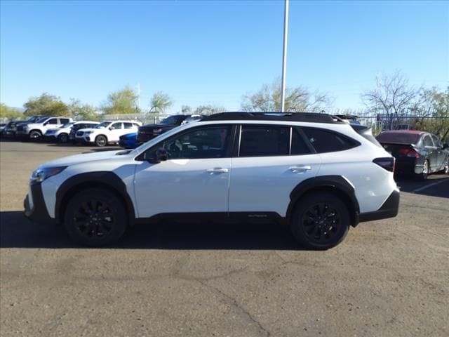
M 23 106 L 25 107 L 25 116 L 69 116 L 67 105 L 59 97 L 48 93 L 29 98 Z

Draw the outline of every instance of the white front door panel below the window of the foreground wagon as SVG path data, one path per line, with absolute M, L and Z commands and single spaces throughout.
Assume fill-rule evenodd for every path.
M 138 163 L 134 188 L 140 218 L 159 213 L 228 211 L 230 158 Z

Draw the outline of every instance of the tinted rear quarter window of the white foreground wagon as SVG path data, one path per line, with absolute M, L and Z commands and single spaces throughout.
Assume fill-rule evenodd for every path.
M 318 153 L 344 151 L 360 145 L 356 140 L 341 133 L 321 128 L 302 128 L 302 131 Z

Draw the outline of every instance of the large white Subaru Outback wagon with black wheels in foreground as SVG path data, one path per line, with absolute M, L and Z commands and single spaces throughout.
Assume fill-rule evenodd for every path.
M 62 158 L 32 173 L 25 214 L 102 246 L 151 220 L 286 224 L 328 249 L 359 222 L 398 213 L 394 158 L 370 128 L 328 114 L 225 112 L 135 150 Z

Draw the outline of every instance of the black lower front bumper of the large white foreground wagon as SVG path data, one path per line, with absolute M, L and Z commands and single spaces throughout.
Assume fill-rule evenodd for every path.
M 27 194 L 27 197 L 23 201 L 25 216 L 29 220 L 32 220 L 33 223 L 56 224 L 57 221 L 48 215 L 45 201 L 43 201 L 41 184 L 30 185 L 29 194 Z M 32 202 L 30 202 L 30 199 Z

